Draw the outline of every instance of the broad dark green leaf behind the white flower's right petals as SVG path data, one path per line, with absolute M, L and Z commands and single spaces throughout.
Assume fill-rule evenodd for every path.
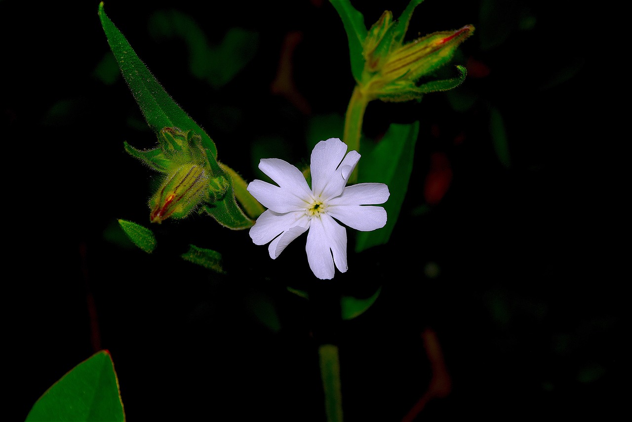
M 408 190 L 418 133 L 418 121 L 408 125 L 393 123 L 377 145 L 366 139 L 362 140 L 358 183 L 386 183 L 391 196 L 382 204 L 387 213 L 386 226 L 372 232 L 358 232 L 356 252 L 389 241 Z

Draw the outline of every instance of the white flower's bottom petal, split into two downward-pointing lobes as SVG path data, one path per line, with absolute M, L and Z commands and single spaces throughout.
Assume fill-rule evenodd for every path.
M 327 214 L 312 218 L 305 251 L 310 268 L 320 279 L 334 278 L 334 262 L 342 273 L 348 268 L 347 232 Z

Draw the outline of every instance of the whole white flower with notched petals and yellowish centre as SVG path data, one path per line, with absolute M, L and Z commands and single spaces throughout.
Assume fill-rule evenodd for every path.
M 358 152 L 346 152 L 346 144 L 337 138 L 321 140 L 314 147 L 312 189 L 292 164 L 277 158 L 260 161 L 261 171 L 278 186 L 262 180 L 248 184 L 248 192 L 268 208 L 250 228 L 250 237 L 257 245 L 271 241 L 270 258 L 276 259 L 292 240 L 309 230 L 305 250 L 310 268 L 318 278 L 333 278 L 334 263 L 339 271 L 347 270 L 347 232 L 336 220 L 363 232 L 384 227 L 386 210 L 368 205 L 386 202 L 388 187 L 384 183 L 345 187 L 360 160 Z

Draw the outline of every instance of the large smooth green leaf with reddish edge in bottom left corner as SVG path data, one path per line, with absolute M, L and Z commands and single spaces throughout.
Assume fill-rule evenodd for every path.
M 35 402 L 26 421 L 125 421 L 109 352 L 97 352 L 66 373 Z

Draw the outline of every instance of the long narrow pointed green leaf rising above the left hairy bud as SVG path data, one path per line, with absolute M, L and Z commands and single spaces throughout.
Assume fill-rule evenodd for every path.
M 107 17 L 103 2 L 99 4 L 99 17 L 114 58 L 145 116 L 147 125 L 156 134 L 165 127 L 178 127 L 183 132 L 193 130 L 202 136 L 202 144 L 210 149 L 213 158 L 216 158 L 217 148 L 213 140 L 173 101 L 147 66 L 138 58 L 125 36 Z

